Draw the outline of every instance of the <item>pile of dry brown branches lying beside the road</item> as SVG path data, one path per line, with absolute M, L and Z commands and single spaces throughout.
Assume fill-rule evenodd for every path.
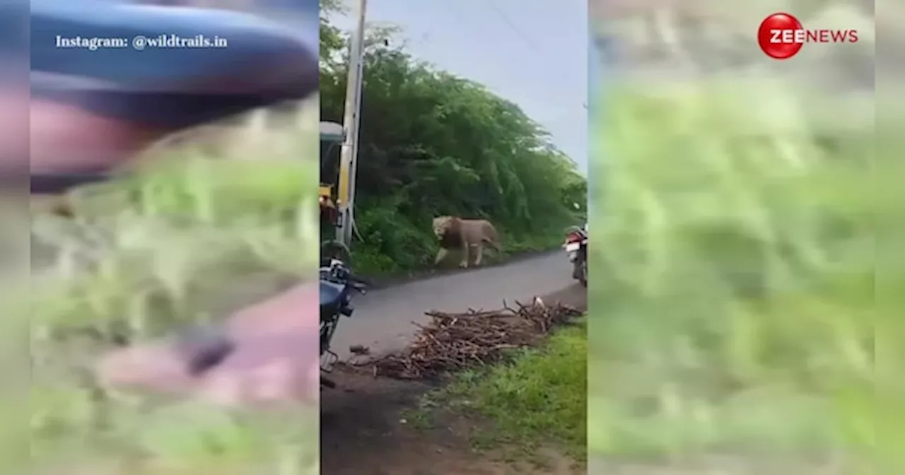
M 538 339 L 581 312 L 567 305 L 545 305 L 535 299 L 530 305 L 516 302 L 512 309 L 465 313 L 426 312 L 428 325 L 418 325 L 414 341 L 404 351 L 349 366 L 375 376 L 398 379 L 433 379 L 469 367 L 497 363 L 510 350 L 529 347 Z

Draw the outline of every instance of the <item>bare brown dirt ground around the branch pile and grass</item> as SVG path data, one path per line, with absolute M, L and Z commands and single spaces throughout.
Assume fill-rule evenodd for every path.
M 542 297 L 586 308 L 586 294 L 574 285 Z M 331 475 L 571 475 L 586 473 L 556 451 L 542 463 L 511 461 L 498 453 L 476 451 L 469 430 L 480 422 L 462 417 L 437 421 L 431 428 L 405 419 L 432 386 L 335 371 L 338 387 L 320 399 L 320 468 Z

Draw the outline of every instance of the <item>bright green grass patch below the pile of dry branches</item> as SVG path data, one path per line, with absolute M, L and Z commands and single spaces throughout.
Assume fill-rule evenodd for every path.
M 505 444 L 531 453 L 548 446 L 584 460 L 586 395 L 582 320 L 557 330 L 542 347 L 519 350 L 510 363 L 457 375 L 451 385 L 430 394 L 416 412 L 445 406 L 485 419 L 489 424 L 471 434 L 472 442 L 482 447 Z

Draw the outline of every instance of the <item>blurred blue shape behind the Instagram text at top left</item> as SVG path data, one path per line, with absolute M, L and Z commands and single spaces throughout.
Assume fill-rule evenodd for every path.
M 305 5 L 309 3 L 306 0 Z M 174 129 L 301 99 L 318 88 L 316 10 L 314 15 L 308 28 L 314 31 L 299 32 L 252 14 L 224 10 L 34 0 L 32 94 Z M 171 35 L 204 35 L 224 39 L 228 45 L 155 48 L 148 44 L 140 51 L 131 47 L 138 36 Z M 76 37 L 118 38 L 129 46 L 93 51 L 58 47 L 58 38 Z

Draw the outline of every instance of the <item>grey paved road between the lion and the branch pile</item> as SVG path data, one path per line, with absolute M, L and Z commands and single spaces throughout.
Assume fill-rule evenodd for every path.
M 364 345 L 372 354 L 405 347 L 414 333 L 412 322 L 430 320 L 424 312 L 500 309 L 502 300 L 527 302 L 536 295 L 562 290 L 575 282 L 563 252 L 532 257 L 506 265 L 435 277 L 372 290 L 354 300 L 352 318 L 342 318 L 333 338 L 341 359 L 350 345 Z

